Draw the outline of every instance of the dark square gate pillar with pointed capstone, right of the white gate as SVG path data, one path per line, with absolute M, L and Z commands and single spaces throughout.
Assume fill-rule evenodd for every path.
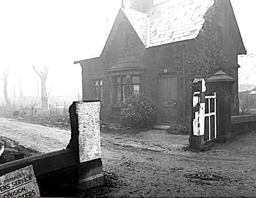
M 235 81 L 221 70 L 206 80 L 207 91 L 217 94 L 217 140 L 222 143 L 232 136 L 231 105 Z

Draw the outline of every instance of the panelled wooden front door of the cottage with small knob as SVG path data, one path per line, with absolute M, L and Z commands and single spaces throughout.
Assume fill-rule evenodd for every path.
M 163 75 L 160 78 L 160 121 L 177 121 L 177 77 Z

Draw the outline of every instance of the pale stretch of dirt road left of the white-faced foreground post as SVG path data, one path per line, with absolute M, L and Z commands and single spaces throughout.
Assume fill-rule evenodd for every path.
M 0 118 L 0 136 L 42 153 L 65 149 L 70 131 Z

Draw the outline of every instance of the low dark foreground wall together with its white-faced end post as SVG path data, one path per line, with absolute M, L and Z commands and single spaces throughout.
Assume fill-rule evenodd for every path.
M 96 155 L 98 157 L 93 159 L 81 159 L 81 156 L 86 156 L 86 152 L 91 152 L 84 149 L 87 148 L 84 144 L 90 140 L 83 136 L 94 131 L 100 138 L 99 131 L 97 131 L 99 130 L 99 111 L 95 109 L 99 109 L 99 105 L 99 101 L 73 102 L 69 108 L 71 139 L 67 148 L 1 164 L 0 176 L 33 165 L 40 194 L 43 197 L 76 196 L 75 186 L 77 184 L 84 185 L 86 188 L 104 185 L 105 177 L 102 173 L 100 155 Z M 83 115 L 90 119 L 81 120 L 84 118 Z M 84 123 L 80 125 L 79 120 Z M 84 125 L 85 123 L 87 125 Z M 100 152 L 100 144 L 98 146 L 99 151 L 97 150 L 97 152 Z

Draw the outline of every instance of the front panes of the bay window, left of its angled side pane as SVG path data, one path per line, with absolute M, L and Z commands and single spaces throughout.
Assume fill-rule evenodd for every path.
M 114 80 L 114 100 L 115 102 L 125 101 L 126 96 L 126 85 L 127 77 L 126 76 L 116 76 Z

